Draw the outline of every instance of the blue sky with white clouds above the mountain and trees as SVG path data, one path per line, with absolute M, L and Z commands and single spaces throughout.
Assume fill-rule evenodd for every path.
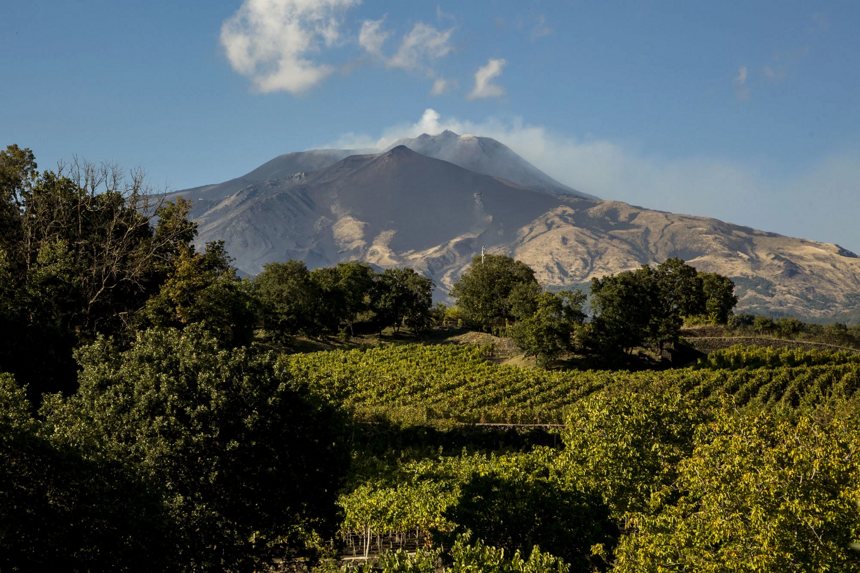
M 860 251 L 858 29 L 856 1 L 6 3 L 0 144 L 182 189 L 450 128 L 602 198 Z

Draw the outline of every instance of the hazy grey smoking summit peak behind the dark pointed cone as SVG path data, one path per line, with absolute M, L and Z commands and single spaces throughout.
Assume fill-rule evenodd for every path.
M 398 145 L 405 145 L 421 155 L 448 161 L 475 173 L 501 177 L 536 191 L 597 199 L 594 195 L 559 183 L 506 145 L 489 137 L 457 135 L 453 131 L 445 130 L 439 135 L 425 133 L 414 139 L 400 139 L 391 147 Z

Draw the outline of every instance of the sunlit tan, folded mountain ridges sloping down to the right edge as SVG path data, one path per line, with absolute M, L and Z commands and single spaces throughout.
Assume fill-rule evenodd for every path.
M 732 277 L 741 309 L 812 317 L 860 306 L 860 259 L 837 245 L 615 201 L 578 207 L 539 217 L 503 251 L 557 286 L 680 257 Z

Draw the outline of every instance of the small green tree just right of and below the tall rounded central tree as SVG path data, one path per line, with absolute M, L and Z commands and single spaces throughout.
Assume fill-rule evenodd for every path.
M 510 328 L 511 338 L 526 356 L 546 367 L 570 348 L 571 335 L 585 320 L 585 301 L 581 291 L 541 293 L 534 299 L 534 314 Z

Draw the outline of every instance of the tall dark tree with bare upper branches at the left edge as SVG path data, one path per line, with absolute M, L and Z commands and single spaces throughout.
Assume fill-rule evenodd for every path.
M 126 177 L 75 161 L 39 173 L 29 149 L 0 151 L 0 370 L 34 403 L 74 391 L 72 349 L 121 335 L 157 292 L 177 247 L 193 239 L 184 205 L 171 211 L 139 170 Z

